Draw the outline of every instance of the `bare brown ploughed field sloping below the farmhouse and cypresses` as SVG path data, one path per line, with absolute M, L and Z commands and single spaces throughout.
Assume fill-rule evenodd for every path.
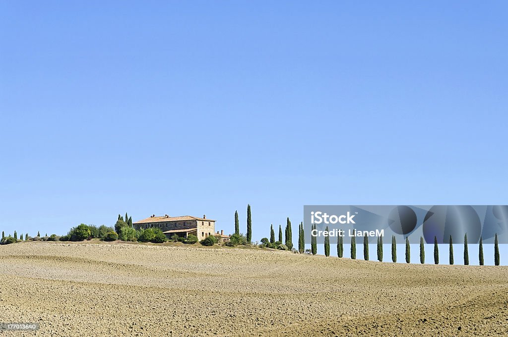
M 123 243 L 0 247 L 2 335 L 507 335 L 508 267 Z

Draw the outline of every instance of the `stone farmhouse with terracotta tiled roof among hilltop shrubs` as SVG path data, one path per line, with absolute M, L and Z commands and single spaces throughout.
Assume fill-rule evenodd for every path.
M 170 217 L 164 215 L 161 217 L 152 215 L 149 218 L 139 220 L 133 223 L 137 230 L 141 228 L 161 228 L 166 237 L 171 238 L 174 234 L 179 237 L 187 238 L 189 234 L 194 234 L 201 241 L 208 235 L 215 235 L 220 243 L 229 241 L 229 235 L 224 235 L 221 230 L 215 234 L 215 220 L 207 219 L 206 215 L 202 218 L 184 215 L 180 217 Z

